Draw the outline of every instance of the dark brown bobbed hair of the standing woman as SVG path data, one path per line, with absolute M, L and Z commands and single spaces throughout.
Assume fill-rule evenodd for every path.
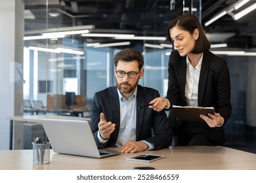
M 198 18 L 193 14 L 183 14 L 170 22 L 168 27 L 168 37 L 170 41 L 171 41 L 170 29 L 172 29 L 175 26 L 179 27 L 179 29 L 182 29 L 184 31 L 188 31 L 190 35 L 193 35 L 194 30 L 198 29 L 199 37 L 198 37 L 198 40 L 196 40 L 193 50 L 191 51 L 192 54 L 200 54 L 202 52 L 209 50 L 209 48 L 211 48 L 211 43 L 207 39 L 202 25 L 200 24 Z

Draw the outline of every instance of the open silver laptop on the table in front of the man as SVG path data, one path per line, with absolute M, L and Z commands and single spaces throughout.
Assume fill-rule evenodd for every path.
M 54 152 L 91 158 L 121 154 L 121 152 L 98 150 L 87 121 L 43 118 L 41 123 Z

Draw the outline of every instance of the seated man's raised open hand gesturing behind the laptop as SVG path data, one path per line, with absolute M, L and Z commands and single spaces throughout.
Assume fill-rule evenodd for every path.
M 101 112 L 98 129 L 100 131 L 100 137 L 106 140 L 110 137 L 110 134 L 116 129 L 116 124 L 112 124 L 112 122 L 106 122 L 104 114 L 103 112 Z

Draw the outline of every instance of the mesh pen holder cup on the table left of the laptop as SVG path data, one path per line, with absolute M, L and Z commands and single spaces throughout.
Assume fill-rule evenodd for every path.
M 50 142 L 33 145 L 33 164 L 43 165 L 50 163 Z

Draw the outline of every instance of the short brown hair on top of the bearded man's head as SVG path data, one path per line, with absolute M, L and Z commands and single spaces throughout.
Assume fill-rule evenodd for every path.
M 121 50 L 114 56 L 114 65 L 117 67 L 118 61 L 133 61 L 137 60 L 139 63 L 139 69 L 142 69 L 144 65 L 144 59 L 142 54 L 139 51 L 133 48 L 126 48 L 125 50 Z

